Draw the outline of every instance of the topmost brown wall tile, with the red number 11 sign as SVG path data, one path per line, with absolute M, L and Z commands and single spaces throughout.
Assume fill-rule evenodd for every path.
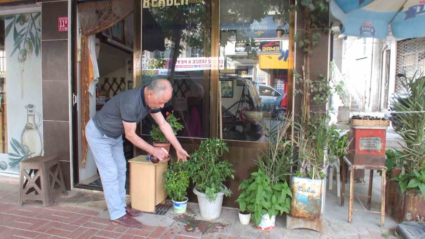
M 58 31 L 59 17 L 68 17 L 68 1 L 42 3 L 41 12 L 41 39 L 68 39 L 69 30 Z

